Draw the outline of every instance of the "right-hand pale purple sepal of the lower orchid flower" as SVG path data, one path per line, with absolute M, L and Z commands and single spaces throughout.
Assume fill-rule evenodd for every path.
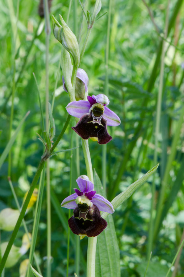
M 114 208 L 107 199 L 105 199 L 102 195 L 100 194 L 95 194 L 93 196 L 93 199 L 91 202 L 98 207 L 100 211 L 105 211 L 107 213 L 112 214 L 114 212 Z

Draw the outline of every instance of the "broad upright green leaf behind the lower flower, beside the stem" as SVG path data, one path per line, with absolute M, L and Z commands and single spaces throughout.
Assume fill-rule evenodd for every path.
M 105 196 L 102 188 L 102 183 L 98 174 L 94 170 L 94 186 L 95 190 L 101 195 Z M 120 260 L 119 260 L 119 247 L 115 232 L 113 217 L 108 214 L 107 228 L 98 235 L 97 249 L 96 249 L 96 277 L 120 277 Z

